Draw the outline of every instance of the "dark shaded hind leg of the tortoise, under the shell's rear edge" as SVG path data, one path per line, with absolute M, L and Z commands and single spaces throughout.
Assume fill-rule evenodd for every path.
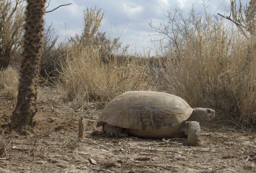
M 127 136 L 126 131 L 123 128 L 117 127 L 117 126 L 111 126 L 107 123 L 105 123 L 102 126 L 102 130 L 104 133 L 106 133 L 109 136 L 112 137 L 125 137 Z

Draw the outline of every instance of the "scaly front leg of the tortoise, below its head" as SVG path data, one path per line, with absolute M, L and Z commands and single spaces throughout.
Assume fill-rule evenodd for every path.
M 191 146 L 200 146 L 200 133 L 201 128 L 198 122 L 196 121 L 187 121 L 182 127 L 181 131 L 185 132 L 188 136 L 188 143 Z

